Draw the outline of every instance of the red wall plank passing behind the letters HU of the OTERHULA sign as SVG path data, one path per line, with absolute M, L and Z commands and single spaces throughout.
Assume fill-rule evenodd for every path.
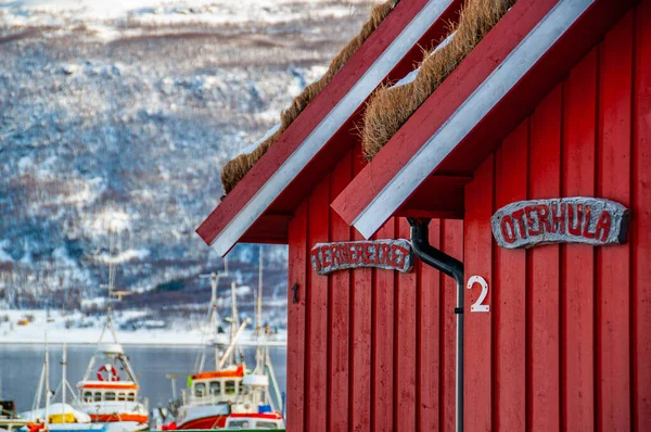
M 595 195 L 597 49 L 563 86 L 563 196 Z M 562 246 L 563 430 L 595 430 L 595 249 Z

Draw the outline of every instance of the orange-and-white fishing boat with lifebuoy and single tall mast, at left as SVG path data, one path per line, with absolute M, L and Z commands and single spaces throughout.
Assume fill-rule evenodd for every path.
M 107 431 L 144 431 L 149 429 L 146 399 L 139 396 L 138 378 L 113 327 L 114 281 L 115 266 L 111 261 L 108 284 L 101 285 L 108 290 L 106 322 L 84 378 L 77 383 L 77 408 Z M 103 342 L 106 334 L 111 335 L 108 343 Z

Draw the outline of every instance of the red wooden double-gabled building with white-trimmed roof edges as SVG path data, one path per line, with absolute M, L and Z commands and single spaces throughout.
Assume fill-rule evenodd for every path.
M 289 431 L 649 431 L 651 1 L 512 1 L 367 163 L 365 101 L 462 3 L 397 3 L 197 232 L 290 246 Z M 311 262 L 411 236 L 411 272 Z M 481 302 L 427 265 L 451 257 Z

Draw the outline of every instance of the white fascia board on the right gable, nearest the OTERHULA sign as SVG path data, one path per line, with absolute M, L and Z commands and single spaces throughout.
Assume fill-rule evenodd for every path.
M 561 0 L 355 218 L 370 238 L 595 0 Z

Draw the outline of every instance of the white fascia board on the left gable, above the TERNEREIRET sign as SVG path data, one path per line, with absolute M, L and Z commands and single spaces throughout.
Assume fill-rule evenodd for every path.
M 296 178 L 309 161 L 326 145 L 332 136 L 350 118 L 411 48 L 441 17 L 452 0 L 430 0 L 411 20 L 361 78 L 328 113 L 298 148 L 284 161 L 269 180 L 253 195 L 244 207 L 229 221 L 210 243 L 224 256 L 265 213 L 273 200 Z

